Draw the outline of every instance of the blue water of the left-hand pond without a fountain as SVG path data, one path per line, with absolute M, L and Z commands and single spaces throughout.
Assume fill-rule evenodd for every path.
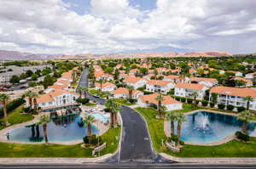
M 79 115 L 53 119 L 47 124 L 49 142 L 82 140 L 87 135 L 87 127 L 79 126 L 80 121 L 81 117 Z M 92 126 L 92 132 L 98 133 L 98 129 Z M 44 142 L 43 127 L 39 126 L 39 134 L 38 132 L 32 134 L 32 127 L 16 128 L 9 133 L 9 139 L 24 142 Z

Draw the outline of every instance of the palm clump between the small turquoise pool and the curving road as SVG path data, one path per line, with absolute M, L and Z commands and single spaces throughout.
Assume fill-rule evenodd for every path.
M 117 121 L 117 114 L 120 110 L 122 110 L 122 107 L 120 106 L 120 104 L 117 104 L 113 99 L 108 99 L 105 103 L 105 106 L 110 112 L 110 126 L 115 127 Z

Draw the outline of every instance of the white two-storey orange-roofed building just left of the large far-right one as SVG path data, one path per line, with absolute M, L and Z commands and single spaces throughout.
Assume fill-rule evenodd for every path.
M 204 99 L 207 89 L 208 88 L 203 84 L 177 83 L 174 94 L 180 97 L 192 98 L 192 94 L 196 93 L 196 99 Z

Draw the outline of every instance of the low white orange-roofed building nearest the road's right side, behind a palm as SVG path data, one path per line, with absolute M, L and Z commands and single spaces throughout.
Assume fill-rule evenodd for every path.
M 137 100 L 137 104 L 141 107 L 149 107 L 151 105 L 157 106 L 158 101 L 156 100 L 158 93 L 149 94 L 149 95 L 142 95 Z M 162 96 L 163 101 L 161 102 L 161 105 L 166 107 L 167 111 L 170 110 L 181 110 L 183 109 L 183 104 L 178 102 L 175 99 L 172 99 L 170 96 Z

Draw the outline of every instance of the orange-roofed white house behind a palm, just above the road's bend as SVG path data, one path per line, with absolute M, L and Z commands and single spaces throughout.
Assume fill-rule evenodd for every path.
M 116 90 L 113 90 L 111 93 L 113 94 L 114 99 L 119 99 L 119 98 L 129 99 L 130 97 L 129 90 L 125 87 L 119 87 Z M 139 90 L 132 90 L 131 98 L 138 99 L 142 95 L 143 95 L 143 92 Z

